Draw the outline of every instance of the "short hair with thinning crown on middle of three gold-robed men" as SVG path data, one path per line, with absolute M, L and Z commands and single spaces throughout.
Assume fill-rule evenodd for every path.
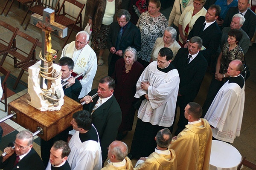
M 167 135 L 167 137 L 166 137 Z M 162 131 L 157 132 L 157 145 L 162 148 L 166 148 L 172 141 L 172 133 L 168 128 L 164 128 Z

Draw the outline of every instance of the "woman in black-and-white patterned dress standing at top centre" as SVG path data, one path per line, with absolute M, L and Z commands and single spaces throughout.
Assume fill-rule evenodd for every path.
M 158 37 L 163 37 L 163 31 L 168 25 L 166 17 L 159 12 L 160 0 L 149 0 L 148 11 L 143 12 L 137 22 L 141 34 L 141 49 L 138 52 L 138 61 L 148 66 L 151 51 Z

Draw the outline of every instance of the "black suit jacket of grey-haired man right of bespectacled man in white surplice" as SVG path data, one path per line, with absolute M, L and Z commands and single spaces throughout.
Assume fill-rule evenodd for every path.
M 179 72 L 180 94 L 185 100 L 193 101 L 198 94 L 208 64 L 204 56 L 199 52 L 186 66 L 188 56 L 188 49 L 180 48 L 172 64 Z

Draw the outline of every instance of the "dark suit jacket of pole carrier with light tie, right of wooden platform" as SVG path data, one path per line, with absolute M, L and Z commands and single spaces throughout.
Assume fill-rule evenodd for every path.
M 93 89 L 88 93 L 92 96 L 97 92 Z M 85 104 L 84 109 L 92 112 L 94 105 L 98 101 L 99 96 L 93 99 L 90 104 Z M 102 149 L 102 160 L 106 160 L 108 156 L 108 146 L 115 140 L 118 128 L 122 121 L 122 111 L 113 95 L 108 101 L 102 104 L 93 112 L 93 124 L 99 134 L 100 146 Z

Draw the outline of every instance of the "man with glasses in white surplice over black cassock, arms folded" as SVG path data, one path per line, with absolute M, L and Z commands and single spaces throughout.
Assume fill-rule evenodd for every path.
M 160 49 L 157 61 L 146 67 L 137 82 L 135 97 L 142 103 L 129 158 L 147 157 L 153 153 L 157 131 L 173 124 L 180 79 L 171 63 L 172 57 L 171 49 Z

